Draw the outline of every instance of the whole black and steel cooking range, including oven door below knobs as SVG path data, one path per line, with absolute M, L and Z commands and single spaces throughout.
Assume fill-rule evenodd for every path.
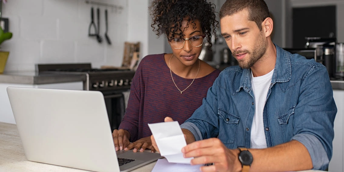
M 90 63 L 83 64 L 37 64 L 39 74 L 85 75 L 84 90 L 100 91 L 104 95 L 110 127 L 117 129 L 125 112 L 123 92 L 130 89 L 135 71 L 121 68 L 98 69 Z

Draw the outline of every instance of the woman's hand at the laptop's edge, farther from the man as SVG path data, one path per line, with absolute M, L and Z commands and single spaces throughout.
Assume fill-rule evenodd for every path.
M 130 132 L 127 130 L 114 130 L 112 132 L 112 138 L 114 138 L 115 150 L 123 150 L 130 143 Z

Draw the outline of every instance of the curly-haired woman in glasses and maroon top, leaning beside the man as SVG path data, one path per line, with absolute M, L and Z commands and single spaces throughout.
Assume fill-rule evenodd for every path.
M 172 54 L 148 55 L 132 80 L 126 114 L 114 130 L 115 149 L 134 152 L 152 147 L 148 123 L 172 117 L 180 124 L 202 104 L 220 73 L 198 59 L 203 42 L 211 46 L 218 22 L 206 0 L 153 0 L 152 28 L 168 37 Z M 130 141 L 132 143 L 130 143 Z

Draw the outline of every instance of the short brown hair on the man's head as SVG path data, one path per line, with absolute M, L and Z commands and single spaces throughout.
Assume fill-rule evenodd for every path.
M 220 10 L 220 20 L 227 15 L 233 15 L 247 9 L 248 20 L 256 22 L 259 30 L 261 23 L 270 17 L 269 8 L 264 0 L 227 0 Z

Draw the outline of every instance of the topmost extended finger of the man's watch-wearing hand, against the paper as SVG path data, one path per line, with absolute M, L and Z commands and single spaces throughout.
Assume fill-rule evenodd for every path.
M 200 141 L 195 141 L 190 144 L 187 144 L 184 148 L 182 148 L 182 152 L 190 152 L 192 150 L 198 149 L 198 148 L 206 148 L 206 147 L 219 147 L 222 145 L 222 142 L 217 138 L 210 138 Z

